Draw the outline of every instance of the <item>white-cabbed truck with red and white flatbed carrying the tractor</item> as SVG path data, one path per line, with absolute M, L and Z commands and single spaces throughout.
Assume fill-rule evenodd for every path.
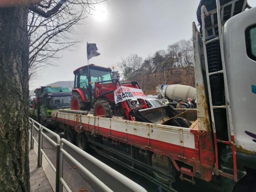
M 52 120 L 80 148 L 93 148 L 168 191 L 181 179 L 212 191 L 255 192 L 256 8 L 246 5 L 201 1 L 201 29 L 192 28 L 197 109 L 175 115 L 189 120 L 182 126 L 166 124 L 162 113 L 172 111 L 162 107 L 140 110 L 144 122 L 76 110 L 53 111 Z

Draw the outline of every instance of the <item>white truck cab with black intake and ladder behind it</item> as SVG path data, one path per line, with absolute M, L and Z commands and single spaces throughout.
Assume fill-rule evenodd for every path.
M 198 124 L 210 116 L 223 191 L 255 189 L 246 183 L 256 174 L 256 7 L 223 2 L 200 3 L 199 31 L 193 23 Z

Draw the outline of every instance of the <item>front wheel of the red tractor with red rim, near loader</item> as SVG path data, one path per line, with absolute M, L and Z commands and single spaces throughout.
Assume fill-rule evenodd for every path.
M 111 109 L 111 106 L 109 105 L 109 102 L 99 99 L 95 102 L 93 106 L 94 116 L 104 116 L 111 118 L 113 116 L 113 111 Z

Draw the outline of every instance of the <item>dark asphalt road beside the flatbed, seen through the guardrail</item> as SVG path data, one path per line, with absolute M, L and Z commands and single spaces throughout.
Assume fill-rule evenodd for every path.
M 52 130 L 54 131 L 54 130 Z M 36 131 L 35 131 L 36 134 Z M 49 137 L 51 137 L 49 134 L 47 134 Z M 64 137 L 63 134 L 60 134 L 61 137 Z M 51 137 L 54 139 L 54 137 Z M 68 146 L 64 146 L 64 149 L 71 154 L 76 160 L 79 161 L 84 167 L 86 167 L 90 172 L 92 172 L 96 177 L 98 177 L 100 180 L 102 180 L 103 183 L 105 183 L 108 187 L 110 187 L 114 192 L 131 192 L 131 189 L 120 183 L 118 180 L 113 178 L 108 173 L 104 172 L 102 169 L 91 163 L 89 160 L 86 160 L 84 157 L 82 157 L 79 153 L 74 151 L 73 149 L 69 148 Z M 164 189 L 161 189 L 159 186 L 155 185 L 154 183 L 147 180 L 145 177 L 142 177 L 134 172 L 129 171 L 128 169 L 125 169 L 122 166 L 119 166 L 117 163 L 114 163 L 113 161 L 109 160 L 106 157 L 102 157 L 101 155 L 97 154 L 95 151 L 90 152 L 91 155 L 96 157 L 97 159 L 101 160 L 103 163 L 107 164 L 108 166 L 111 166 L 116 171 L 122 173 L 126 177 L 130 178 L 131 180 L 134 180 L 136 183 L 143 186 L 148 192 L 165 192 Z M 67 158 L 66 158 L 67 160 Z M 73 166 L 73 163 L 69 160 L 67 162 L 70 163 L 71 166 Z M 96 186 L 89 178 L 87 178 L 79 169 L 77 169 L 77 172 L 83 177 L 83 179 L 89 183 L 90 187 L 93 188 L 96 192 L 100 192 L 101 189 Z M 197 186 L 192 186 L 188 182 L 182 182 L 178 181 L 177 183 L 173 184 L 174 189 L 176 189 L 178 192 L 198 192 L 198 191 L 207 191 L 207 192 L 213 192 L 215 190 L 211 189 L 210 187 L 207 187 L 207 184 L 200 183 Z M 208 189 L 209 188 L 209 189 Z

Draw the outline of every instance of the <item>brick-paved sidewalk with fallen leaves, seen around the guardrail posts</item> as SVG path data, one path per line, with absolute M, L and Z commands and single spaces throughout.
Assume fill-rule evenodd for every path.
M 49 135 L 49 137 L 51 137 Z M 35 138 L 38 140 L 38 133 L 35 131 Z M 54 137 L 51 137 L 55 140 Z M 43 138 L 43 150 L 49 160 L 56 165 L 56 149 L 45 138 Z M 34 143 L 34 149 L 30 149 L 29 142 L 29 169 L 30 169 L 30 192 L 54 192 L 55 191 L 55 172 L 49 165 L 44 156 L 42 157 L 42 167 L 37 167 L 38 146 Z M 74 192 L 95 192 L 95 184 L 87 177 L 83 178 L 79 174 L 78 167 L 74 163 L 63 159 L 63 178 L 67 185 Z M 40 184 L 40 185 L 39 185 Z M 97 188 L 96 188 L 97 189 Z M 63 188 L 63 191 L 66 190 Z

